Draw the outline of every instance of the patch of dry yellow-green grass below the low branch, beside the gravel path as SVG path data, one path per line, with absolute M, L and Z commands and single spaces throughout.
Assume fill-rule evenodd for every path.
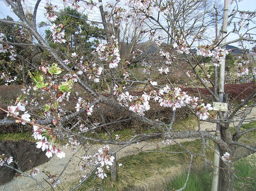
M 201 140 L 181 143 L 192 153 L 202 153 Z M 110 172 L 108 178 L 102 180 L 103 190 L 161 190 L 164 189 L 170 180 L 188 169 L 190 155 L 188 153 L 171 154 L 165 151 L 185 151 L 178 145 L 170 145 L 156 152 L 140 152 L 135 155 L 119 159 L 123 166 L 118 167 L 117 180 L 112 181 Z M 207 150 L 207 158 L 211 160 L 212 150 Z M 195 155 L 193 166 L 200 166 L 203 158 Z M 62 186 L 62 189 L 65 186 Z M 66 190 L 66 189 L 64 189 Z M 77 190 L 101 190 L 101 180 L 96 176 L 91 177 Z

